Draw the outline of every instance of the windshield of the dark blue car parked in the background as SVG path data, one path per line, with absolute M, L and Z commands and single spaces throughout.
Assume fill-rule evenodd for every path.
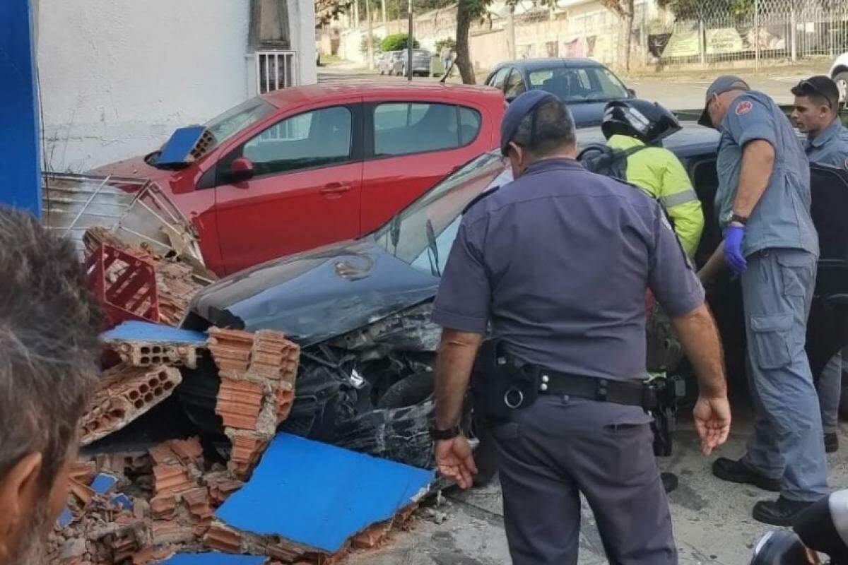
M 552 92 L 564 102 L 609 102 L 628 89 L 605 67 L 552 67 L 528 73 L 530 89 Z

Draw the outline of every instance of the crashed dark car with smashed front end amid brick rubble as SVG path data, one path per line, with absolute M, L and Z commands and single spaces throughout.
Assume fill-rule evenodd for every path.
M 582 130 L 582 144 L 601 141 Z M 683 161 L 713 218 L 717 189 L 715 130 L 686 123 L 666 140 Z M 379 230 L 355 241 L 281 258 L 233 274 L 192 300 L 185 326 L 210 324 L 285 332 L 302 346 L 296 401 L 284 429 L 338 446 L 419 467 L 432 465 L 427 433 L 432 417 L 432 368 L 440 329 L 430 321 L 461 211 L 488 187 L 510 180 L 510 169 L 488 152 L 449 174 Z M 822 240 L 808 352 L 823 367 L 848 336 L 848 174 L 814 168 L 813 213 Z M 634 189 L 636 190 L 636 189 Z M 699 263 L 721 241 L 707 222 Z M 722 330 L 728 374 L 745 373 L 741 293 L 733 280 L 709 290 Z M 681 363 L 678 372 L 691 371 Z M 691 376 L 691 375 L 689 375 Z M 189 415 L 207 429 L 215 418 L 216 379 L 183 379 Z M 466 429 L 473 427 L 466 418 Z M 473 429 L 471 429 L 473 431 Z M 479 465 L 478 465 L 479 466 Z

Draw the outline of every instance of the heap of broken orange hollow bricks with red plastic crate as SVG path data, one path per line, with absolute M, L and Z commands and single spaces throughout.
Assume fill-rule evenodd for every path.
M 96 263 L 89 273 L 98 276 L 99 286 L 92 289 L 104 302 L 109 324 L 118 326 L 102 335 L 104 371 L 79 428 L 89 455 L 71 471 L 68 505 L 49 540 L 49 562 L 146 565 L 185 552 L 215 551 L 207 555 L 331 565 L 349 551 L 381 546 L 392 529 L 405 528 L 417 497 L 392 518 L 348 534 L 333 551 L 235 529 L 216 518 L 216 510 L 251 479 L 292 412 L 300 350 L 273 330 L 213 327 L 205 335 L 177 330 L 192 296 L 215 275 L 180 246 L 162 254 L 165 246 L 121 233 L 93 227 L 80 241 L 81 252 Z M 128 283 L 133 277 L 137 284 Z M 184 339 L 180 332 L 195 335 Z M 95 442 L 143 418 L 184 379 L 203 379 L 209 371 L 216 372 L 209 378 L 220 379 L 215 415 L 228 450 L 211 439 L 188 437 L 136 451 L 98 452 Z

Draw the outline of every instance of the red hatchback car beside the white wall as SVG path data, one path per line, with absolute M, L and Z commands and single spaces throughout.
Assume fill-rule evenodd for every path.
M 503 94 L 435 82 L 299 86 L 209 121 L 212 147 L 180 169 L 158 152 L 92 171 L 141 176 L 196 226 L 206 266 L 237 272 L 365 235 L 498 147 Z

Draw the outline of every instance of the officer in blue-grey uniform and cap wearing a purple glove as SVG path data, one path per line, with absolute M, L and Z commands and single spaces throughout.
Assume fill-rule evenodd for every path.
M 719 458 L 719 479 L 779 491 L 753 516 L 790 525 L 828 493 L 822 418 L 804 344 L 816 284 L 818 236 L 810 168 L 795 130 L 771 98 L 744 80 L 718 77 L 700 124 L 721 131 L 716 209 L 724 241 L 701 269 L 740 276 L 754 433 L 741 459 Z

